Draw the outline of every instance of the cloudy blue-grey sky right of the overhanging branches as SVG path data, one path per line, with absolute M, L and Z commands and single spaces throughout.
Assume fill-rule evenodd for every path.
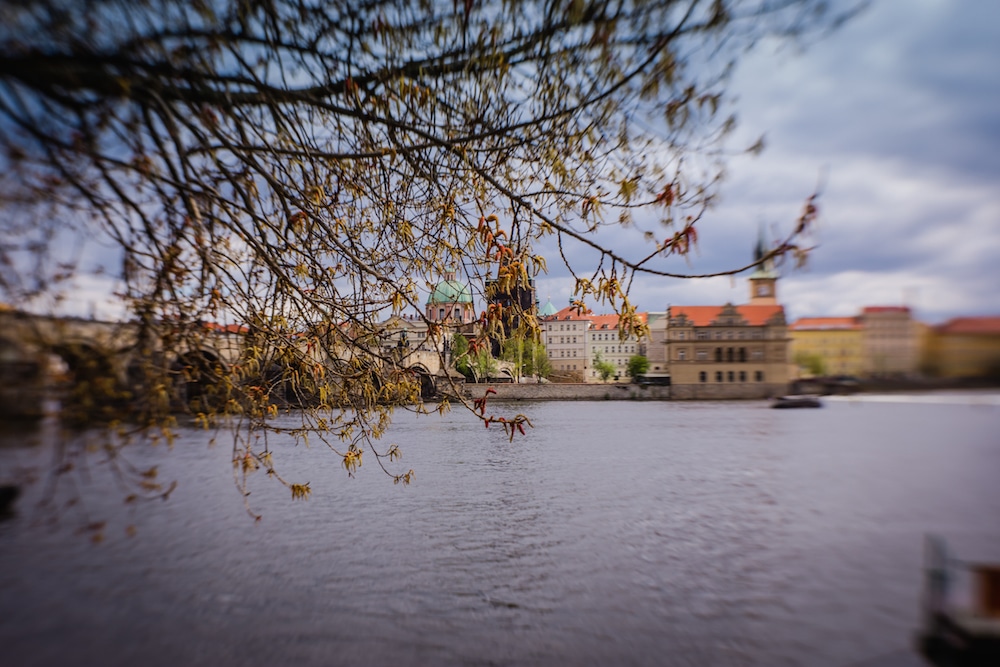
M 826 173 L 822 218 L 805 269 L 784 268 L 790 318 L 911 306 L 938 323 L 1000 315 L 1000 2 L 875 0 L 804 48 L 762 44 L 732 92 L 734 159 L 722 201 L 699 228 L 693 269 L 748 262 L 758 228 L 791 230 Z M 542 303 L 572 284 L 539 281 Z M 743 278 L 644 279 L 640 310 L 745 302 Z

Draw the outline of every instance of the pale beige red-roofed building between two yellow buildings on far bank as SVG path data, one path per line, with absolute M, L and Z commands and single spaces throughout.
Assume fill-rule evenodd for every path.
M 866 306 L 858 317 L 864 338 L 864 372 L 912 375 L 920 362 L 920 330 L 906 306 Z

